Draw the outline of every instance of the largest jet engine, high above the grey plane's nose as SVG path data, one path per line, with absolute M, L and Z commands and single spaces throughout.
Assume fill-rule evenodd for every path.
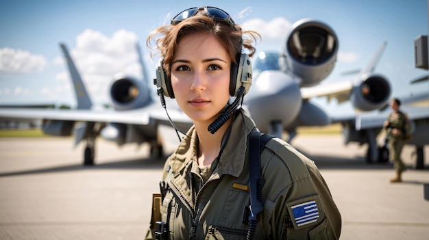
M 282 69 L 302 79 L 301 87 L 317 85 L 328 77 L 339 48 L 334 30 L 326 23 L 302 19 L 292 26 L 286 39 Z

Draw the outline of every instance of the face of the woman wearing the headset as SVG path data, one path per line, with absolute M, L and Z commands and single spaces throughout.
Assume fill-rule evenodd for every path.
M 210 124 L 230 98 L 230 55 L 210 34 L 180 40 L 171 64 L 171 85 L 179 107 L 193 122 Z

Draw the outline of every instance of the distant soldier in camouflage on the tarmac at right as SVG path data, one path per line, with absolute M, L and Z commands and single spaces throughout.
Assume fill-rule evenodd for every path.
M 390 144 L 391 159 L 395 168 L 395 176 L 390 179 L 390 182 L 400 183 L 402 182 L 402 172 L 406 170 L 401 159 L 401 153 L 402 148 L 404 148 L 408 140 L 407 132 L 410 131 L 410 125 L 408 124 L 406 114 L 400 111 L 401 101 L 399 99 L 393 98 L 390 106 L 393 112 L 384 121 L 384 128 L 386 129 L 387 139 Z

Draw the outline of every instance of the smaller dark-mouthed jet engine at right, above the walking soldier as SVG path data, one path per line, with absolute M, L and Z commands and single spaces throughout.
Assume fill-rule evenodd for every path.
M 387 105 L 391 94 L 389 81 L 381 75 L 363 76 L 350 93 L 350 102 L 359 111 L 372 111 Z

